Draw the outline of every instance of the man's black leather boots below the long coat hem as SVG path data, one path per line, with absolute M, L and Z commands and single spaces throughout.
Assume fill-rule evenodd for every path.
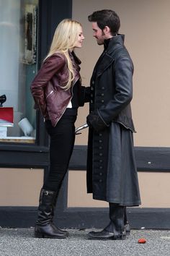
M 125 207 L 109 202 L 109 225 L 99 232 L 90 232 L 89 239 L 114 239 L 124 240 L 126 235 L 124 231 Z

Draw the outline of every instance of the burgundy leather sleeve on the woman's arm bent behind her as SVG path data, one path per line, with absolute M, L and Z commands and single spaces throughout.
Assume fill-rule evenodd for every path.
M 50 56 L 42 64 L 42 67 L 35 76 L 35 79 L 32 81 L 30 89 L 35 100 L 35 108 L 40 108 L 40 111 L 44 117 L 47 114 L 45 87 L 48 85 L 48 82 L 53 75 L 57 73 L 64 66 L 64 64 L 66 64 L 66 59 L 61 54 L 54 54 L 53 56 Z

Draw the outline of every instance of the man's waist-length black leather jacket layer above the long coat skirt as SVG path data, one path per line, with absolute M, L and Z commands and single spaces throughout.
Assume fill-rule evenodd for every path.
M 94 67 L 89 116 L 99 115 L 107 125 L 120 122 L 135 132 L 130 107 L 134 68 L 123 40 L 123 35 L 113 37 Z

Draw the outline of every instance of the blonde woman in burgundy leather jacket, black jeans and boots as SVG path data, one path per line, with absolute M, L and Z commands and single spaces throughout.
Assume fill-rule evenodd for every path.
M 68 232 L 53 224 L 53 213 L 63 178 L 73 152 L 77 109 L 86 102 L 74 48 L 84 40 L 81 24 L 74 20 L 59 23 L 50 51 L 32 82 L 35 106 L 40 108 L 50 135 L 50 171 L 40 192 L 35 237 L 66 238 Z M 82 97 L 84 95 L 84 97 Z

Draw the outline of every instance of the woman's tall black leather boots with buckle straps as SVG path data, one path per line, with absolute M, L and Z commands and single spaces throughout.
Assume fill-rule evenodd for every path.
M 41 189 L 40 203 L 35 223 L 35 237 L 38 238 L 66 238 L 63 231 L 52 223 L 53 204 L 57 192 Z

